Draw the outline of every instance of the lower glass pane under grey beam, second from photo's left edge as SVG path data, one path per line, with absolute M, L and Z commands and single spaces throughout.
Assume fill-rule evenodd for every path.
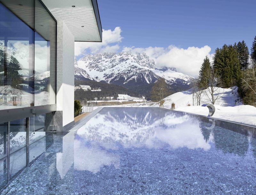
M 10 154 L 26 146 L 26 119 L 10 122 Z

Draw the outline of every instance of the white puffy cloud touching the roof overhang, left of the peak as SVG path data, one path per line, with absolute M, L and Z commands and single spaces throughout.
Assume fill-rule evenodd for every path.
M 121 28 L 116 27 L 113 31 L 111 29 L 104 30 L 102 32 L 102 43 L 95 42 L 75 42 L 75 55 L 85 54 L 86 50 L 90 50 L 90 53 L 97 52 L 117 52 L 119 45 L 111 45 L 122 41 Z

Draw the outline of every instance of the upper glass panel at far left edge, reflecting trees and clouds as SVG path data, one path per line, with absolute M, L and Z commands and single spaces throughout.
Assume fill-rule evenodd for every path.
M 33 105 L 34 32 L 0 4 L 0 109 Z

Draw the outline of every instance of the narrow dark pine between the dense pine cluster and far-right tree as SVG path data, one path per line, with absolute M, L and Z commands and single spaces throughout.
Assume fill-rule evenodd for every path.
M 239 41 L 237 46 L 234 45 L 234 48 L 238 52 L 240 68 L 244 71 L 249 66 L 249 49 L 244 40 L 242 42 Z

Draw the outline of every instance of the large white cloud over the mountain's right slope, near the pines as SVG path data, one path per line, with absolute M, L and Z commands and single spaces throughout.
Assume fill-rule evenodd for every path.
M 174 45 L 170 45 L 167 48 L 124 47 L 123 51 L 131 51 L 134 53 L 145 52 L 149 58 L 155 59 L 157 67 L 175 67 L 178 72 L 194 77 L 198 76 L 205 56 L 208 56 L 210 60 L 212 59 L 212 54 L 210 54 L 211 48 L 208 45 L 201 48 L 188 47 L 187 49 L 178 48 Z

